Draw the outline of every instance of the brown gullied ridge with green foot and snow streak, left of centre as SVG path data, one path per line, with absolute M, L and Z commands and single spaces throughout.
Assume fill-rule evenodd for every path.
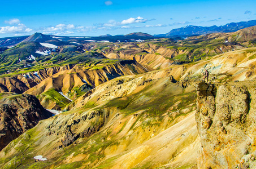
M 116 64 L 98 64 L 92 69 L 63 70 L 46 78 L 25 93 L 37 96 L 47 109 L 63 109 L 85 92 L 115 77 L 148 72 L 136 61 L 120 61 Z M 65 96 L 60 94 L 63 93 Z

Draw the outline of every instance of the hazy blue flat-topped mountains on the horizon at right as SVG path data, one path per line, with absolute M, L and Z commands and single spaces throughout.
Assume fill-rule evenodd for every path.
M 154 35 L 155 37 L 173 37 L 173 36 L 191 36 L 191 35 L 201 35 L 209 33 L 218 33 L 218 32 L 236 32 L 237 30 L 248 28 L 250 26 L 255 26 L 256 20 L 243 21 L 240 23 L 229 23 L 224 26 L 185 26 L 179 29 L 172 29 L 167 34 L 158 34 Z

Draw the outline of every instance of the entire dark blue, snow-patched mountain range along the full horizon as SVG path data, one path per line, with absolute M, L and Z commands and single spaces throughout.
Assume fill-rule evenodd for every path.
M 209 33 L 218 33 L 218 32 L 236 32 L 237 30 L 248 28 L 250 26 L 255 26 L 256 20 L 243 21 L 240 23 L 229 23 L 224 26 L 192 26 L 188 25 L 179 29 L 172 29 L 169 33 L 166 34 L 157 34 L 150 35 L 147 33 L 136 32 L 130 33 L 127 35 L 101 35 L 99 37 L 63 37 L 57 35 L 45 35 L 42 33 L 35 33 L 31 36 L 22 36 L 22 37 L 7 37 L 0 38 L 0 52 L 1 48 L 8 48 L 17 45 L 20 42 L 46 42 L 54 45 L 64 45 L 70 42 L 141 42 L 147 39 L 162 38 L 162 37 L 189 37 L 192 35 L 201 35 Z

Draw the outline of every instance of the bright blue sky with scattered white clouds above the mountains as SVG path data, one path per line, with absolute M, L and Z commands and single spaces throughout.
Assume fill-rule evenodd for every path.
M 1 2 L 0 37 L 36 32 L 68 36 L 168 33 L 186 25 L 212 26 L 256 19 L 255 0 Z

